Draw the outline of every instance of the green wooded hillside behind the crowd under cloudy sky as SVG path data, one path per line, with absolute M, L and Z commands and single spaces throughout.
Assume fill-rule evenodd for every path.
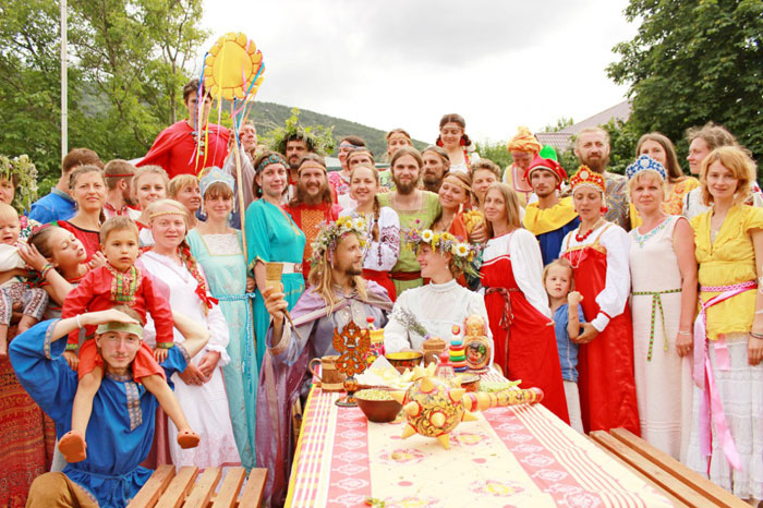
M 291 106 L 256 101 L 252 107 L 249 119 L 254 122 L 257 133 L 265 135 L 276 126 L 283 125 L 289 117 L 291 117 Z M 384 138 L 386 131 L 302 108 L 300 108 L 300 123 L 304 126 L 334 126 L 334 137 L 337 141 L 337 146 L 339 146 L 339 140 L 344 136 L 351 134 L 361 136 L 365 140 L 366 146 L 373 152 L 376 161 L 382 162 L 384 160 L 384 154 L 387 152 L 387 142 Z M 419 149 L 423 149 L 429 144 L 422 141 L 413 141 L 413 145 Z M 334 154 L 328 155 L 336 156 L 336 149 Z

